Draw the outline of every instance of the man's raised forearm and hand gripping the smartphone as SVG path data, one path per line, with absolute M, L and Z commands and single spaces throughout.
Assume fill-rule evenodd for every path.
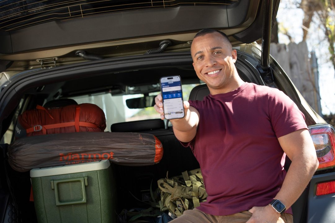
M 163 112 L 163 102 L 162 95 L 158 94 L 155 97 L 154 109 L 160 114 L 160 118 L 164 119 Z M 190 106 L 187 101 L 184 101 L 184 118 L 170 119 L 173 125 L 173 131 L 177 137 L 182 142 L 189 142 L 197 133 L 197 127 L 199 123 L 199 112 L 194 107 Z

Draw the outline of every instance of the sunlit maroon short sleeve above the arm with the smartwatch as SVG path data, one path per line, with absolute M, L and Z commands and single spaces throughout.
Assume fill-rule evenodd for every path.
M 307 129 L 304 114 L 278 89 L 272 89 L 269 93 L 269 117 L 277 138 L 299 129 Z

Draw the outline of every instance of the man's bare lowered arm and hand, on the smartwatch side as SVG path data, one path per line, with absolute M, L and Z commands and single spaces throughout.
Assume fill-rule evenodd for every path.
M 307 129 L 300 129 L 278 138 L 278 141 L 292 161 L 283 185 L 274 199 L 280 200 L 286 209 L 303 193 L 319 162 L 312 138 Z M 247 223 L 277 222 L 280 214 L 270 205 L 253 207 L 249 210 L 253 216 Z

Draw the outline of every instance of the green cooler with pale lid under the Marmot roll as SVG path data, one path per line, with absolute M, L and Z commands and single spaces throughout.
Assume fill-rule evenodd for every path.
M 116 223 L 116 187 L 109 160 L 30 171 L 39 223 Z

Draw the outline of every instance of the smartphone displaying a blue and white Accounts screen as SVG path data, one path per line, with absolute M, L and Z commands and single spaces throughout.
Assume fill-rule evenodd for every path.
M 159 82 L 163 98 L 164 117 L 166 119 L 183 118 L 185 111 L 180 76 L 162 77 Z

